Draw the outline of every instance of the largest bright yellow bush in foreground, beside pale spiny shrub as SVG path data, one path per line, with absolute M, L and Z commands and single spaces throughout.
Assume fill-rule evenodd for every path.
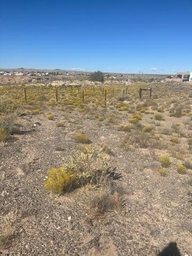
M 66 166 L 47 171 L 44 187 L 54 194 L 61 194 L 75 186 L 76 176 L 66 170 Z

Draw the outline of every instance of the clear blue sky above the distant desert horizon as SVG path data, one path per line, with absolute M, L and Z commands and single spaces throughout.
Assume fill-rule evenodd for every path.
M 0 68 L 192 70 L 192 0 L 0 0 Z

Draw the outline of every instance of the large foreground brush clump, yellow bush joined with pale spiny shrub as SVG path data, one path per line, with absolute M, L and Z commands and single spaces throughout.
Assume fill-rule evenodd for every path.
M 84 152 L 74 153 L 66 164 L 48 170 L 44 187 L 51 193 L 62 194 L 87 183 L 97 183 L 109 168 L 109 155 L 91 145 L 85 146 Z

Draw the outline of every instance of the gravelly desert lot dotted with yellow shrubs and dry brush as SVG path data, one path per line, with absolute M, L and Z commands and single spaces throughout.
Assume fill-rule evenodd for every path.
M 191 109 L 187 83 L 1 85 L 0 254 L 192 255 Z

